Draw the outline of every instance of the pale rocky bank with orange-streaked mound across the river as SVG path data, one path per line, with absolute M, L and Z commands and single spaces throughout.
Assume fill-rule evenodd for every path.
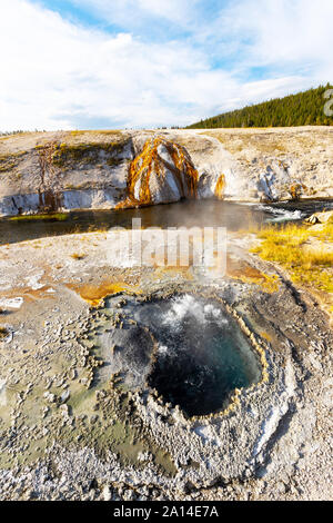
M 182 198 L 333 196 L 332 129 L 79 131 L 0 139 L 0 215 Z

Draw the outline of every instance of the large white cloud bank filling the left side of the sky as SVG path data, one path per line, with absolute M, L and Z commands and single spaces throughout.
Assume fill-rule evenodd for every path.
M 1 128 L 69 128 L 80 119 L 124 126 L 178 122 L 178 78 L 201 53 L 88 30 L 24 0 L 1 7 Z M 168 87 L 169 86 L 169 87 Z M 190 85 L 189 85 L 190 87 Z

